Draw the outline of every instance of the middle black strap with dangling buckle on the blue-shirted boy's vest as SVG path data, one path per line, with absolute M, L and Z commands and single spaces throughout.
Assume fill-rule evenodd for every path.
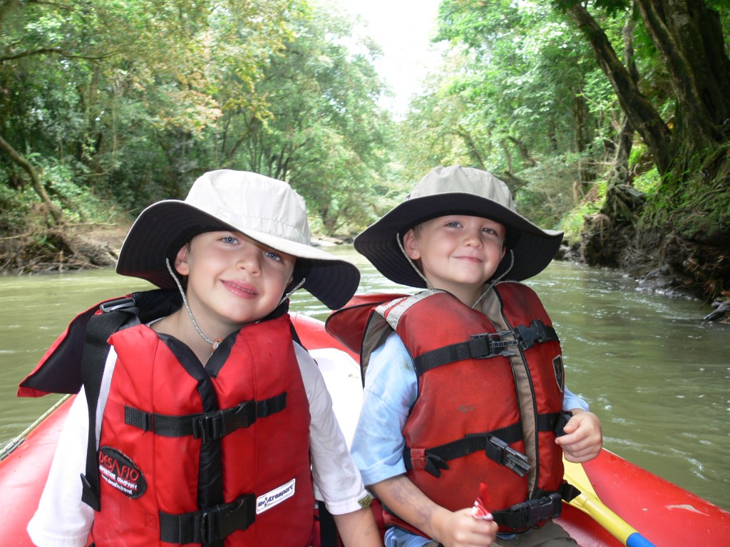
M 470 433 L 457 441 L 434 446 L 431 449 L 406 448 L 403 451 L 403 460 L 407 470 L 424 469 L 434 477 L 440 477 L 441 470 L 449 468 L 446 463 L 449 460 L 484 451 L 489 459 L 523 477 L 530 469 L 527 457 L 509 446 L 522 438 L 521 425 L 512 424 L 499 430 Z

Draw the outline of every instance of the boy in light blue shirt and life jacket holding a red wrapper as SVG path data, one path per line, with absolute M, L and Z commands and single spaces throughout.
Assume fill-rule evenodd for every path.
M 557 333 L 519 283 L 561 239 L 461 166 L 434 168 L 356 237 L 381 274 L 424 289 L 374 309 L 361 350 L 351 451 L 385 506 L 386 546 L 576 544 L 551 521 L 570 496 L 561 457 L 596 457 L 601 424 L 565 387 Z M 480 483 L 494 521 L 472 516 Z

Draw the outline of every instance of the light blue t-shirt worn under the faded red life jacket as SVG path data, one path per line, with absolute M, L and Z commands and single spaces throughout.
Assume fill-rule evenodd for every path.
M 399 335 L 391 333 L 370 357 L 362 410 L 350 447 L 366 485 L 406 472 L 402 431 L 416 395 L 413 360 Z M 588 411 L 588 404 L 566 387 L 563 409 L 572 408 Z M 385 547 L 420 547 L 428 541 L 396 527 L 385 535 Z

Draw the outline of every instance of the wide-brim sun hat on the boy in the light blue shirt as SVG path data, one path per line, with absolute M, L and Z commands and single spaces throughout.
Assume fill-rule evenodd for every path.
M 393 282 L 426 287 L 399 246 L 415 225 L 447 214 L 496 220 L 507 228 L 507 249 L 492 279 L 522 281 L 539 274 L 553 260 L 563 233 L 542 230 L 515 209 L 510 189 L 493 174 L 479 169 L 437 167 L 423 177 L 403 203 L 355 238 L 355 249 Z M 514 255 L 514 263 L 510 252 Z

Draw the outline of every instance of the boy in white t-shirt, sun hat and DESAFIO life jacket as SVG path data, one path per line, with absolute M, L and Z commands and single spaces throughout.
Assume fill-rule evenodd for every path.
M 310 245 L 301 196 L 260 174 L 206 173 L 185 201 L 139 215 L 117 271 L 174 305 L 108 338 L 98 400 L 85 383 L 28 524 L 34 543 L 304 547 L 316 491 L 345 545 L 382 545 L 323 377 L 292 339 L 293 291 L 334 308 L 360 279 Z

